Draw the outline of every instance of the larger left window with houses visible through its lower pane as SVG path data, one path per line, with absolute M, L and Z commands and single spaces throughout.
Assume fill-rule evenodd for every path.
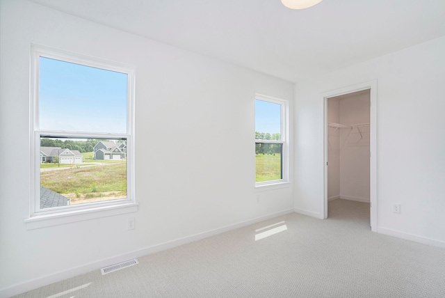
M 31 217 L 134 203 L 133 71 L 32 49 Z

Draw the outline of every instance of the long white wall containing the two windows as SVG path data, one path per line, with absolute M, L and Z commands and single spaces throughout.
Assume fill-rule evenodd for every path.
M 293 84 L 28 1 L 0 10 L 0 296 L 293 211 L 291 185 L 254 189 L 254 94 L 293 109 Z M 26 229 L 31 42 L 136 67 L 135 230 L 126 214 Z

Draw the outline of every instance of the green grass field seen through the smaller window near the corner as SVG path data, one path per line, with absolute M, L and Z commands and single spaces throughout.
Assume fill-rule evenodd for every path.
M 255 156 L 257 182 L 281 179 L 281 155 L 258 154 Z

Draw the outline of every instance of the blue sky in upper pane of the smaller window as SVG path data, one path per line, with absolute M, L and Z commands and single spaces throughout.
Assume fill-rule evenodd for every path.
M 255 132 L 281 133 L 281 104 L 255 100 Z

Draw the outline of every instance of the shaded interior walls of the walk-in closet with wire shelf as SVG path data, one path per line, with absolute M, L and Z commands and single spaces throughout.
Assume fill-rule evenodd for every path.
M 327 100 L 327 198 L 369 203 L 369 90 Z

